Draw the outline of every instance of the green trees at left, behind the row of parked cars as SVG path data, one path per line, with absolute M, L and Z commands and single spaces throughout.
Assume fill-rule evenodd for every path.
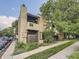
M 15 36 L 14 29 L 15 29 L 16 34 L 17 34 L 17 32 L 18 32 L 18 20 L 14 21 L 12 23 L 12 27 L 8 27 L 8 28 L 5 28 L 2 31 L 0 31 L 0 36 L 8 36 L 8 37 L 12 36 L 13 37 L 13 36 Z

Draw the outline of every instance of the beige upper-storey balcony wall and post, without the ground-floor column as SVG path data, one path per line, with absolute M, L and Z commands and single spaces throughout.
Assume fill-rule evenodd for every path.
M 38 30 L 40 32 L 42 32 L 44 30 L 44 26 L 43 26 L 43 19 L 42 17 L 38 18 L 38 23 L 32 23 L 32 22 L 27 22 L 27 29 L 32 29 L 32 30 Z M 33 26 L 30 26 L 30 23 L 33 24 Z

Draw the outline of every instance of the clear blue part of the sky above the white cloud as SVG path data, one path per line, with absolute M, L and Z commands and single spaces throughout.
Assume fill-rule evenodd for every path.
M 47 0 L 0 0 L 0 16 L 18 17 L 20 5 L 25 4 L 28 12 L 38 14 L 40 6 Z

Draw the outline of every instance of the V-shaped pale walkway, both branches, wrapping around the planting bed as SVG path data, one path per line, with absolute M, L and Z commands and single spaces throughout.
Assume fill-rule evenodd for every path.
M 58 42 L 56 44 L 52 44 L 52 45 L 48 45 L 48 46 L 41 46 L 41 47 L 39 47 L 37 49 L 34 49 L 32 51 L 28 51 L 28 52 L 25 52 L 25 53 L 22 53 L 22 54 L 18 54 L 18 55 L 12 56 L 12 53 L 13 53 L 14 47 L 15 47 L 15 41 L 14 41 L 9 46 L 7 51 L 3 54 L 1 59 L 24 59 L 25 57 L 28 57 L 28 56 L 30 56 L 32 54 L 36 54 L 36 53 L 42 52 L 42 51 L 44 51 L 46 49 L 58 46 L 60 44 L 64 44 L 66 42 L 69 42 L 69 41 L 61 41 L 61 42 Z

